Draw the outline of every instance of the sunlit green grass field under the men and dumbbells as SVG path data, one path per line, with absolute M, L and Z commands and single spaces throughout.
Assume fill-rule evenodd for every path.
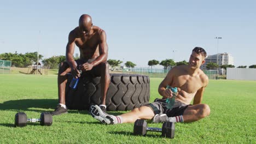
M 15 128 L 18 111 L 39 118 L 41 112 L 55 109 L 57 76 L 0 74 L 0 80 L 0 143 L 256 143 L 256 81 L 210 80 L 202 102 L 210 105 L 211 115 L 198 122 L 176 123 L 174 139 L 166 139 L 154 132 L 133 136 L 133 124 L 103 125 L 88 111 L 76 110 L 54 116 L 51 127 L 28 123 Z M 161 80 L 150 78 L 150 101 L 160 98 Z

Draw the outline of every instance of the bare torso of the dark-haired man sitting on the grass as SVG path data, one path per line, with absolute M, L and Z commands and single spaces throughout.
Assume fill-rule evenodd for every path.
M 204 82 L 206 75 L 202 70 L 199 69 L 196 74 L 188 74 L 188 65 L 178 66 L 174 70 L 173 80 L 171 83 L 172 87 L 178 87 L 178 95 L 176 100 L 181 101 L 185 104 L 190 104 L 191 100 L 194 98 L 196 92 L 206 86 Z

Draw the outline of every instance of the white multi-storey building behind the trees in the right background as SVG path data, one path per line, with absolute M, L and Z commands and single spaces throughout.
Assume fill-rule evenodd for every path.
M 219 55 L 219 57 L 217 57 Z M 201 69 L 202 70 L 206 70 L 206 65 L 207 63 L 213 62 L 213 63 L 217 63 L 217 59 L 219 59 L 219 74 L 223 74 L 224 70 L 222 68 L 220 68 L 221 65 L 234 65 L 234 57 L 232 57 L 230 55 L 230 53 L 218 53 L 218 55 L 209 55 L 206 59 L 205 59 L 205 64 L 201 65 Z M 217 68 L 216 68 L 217 70 Z

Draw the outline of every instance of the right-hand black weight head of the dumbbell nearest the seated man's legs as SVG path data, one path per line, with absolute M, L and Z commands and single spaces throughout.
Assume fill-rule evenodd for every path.
M 162 124 L 162 136 L 173 139 L 175 131 L 175 125 L 173 122 L 164 122 Z

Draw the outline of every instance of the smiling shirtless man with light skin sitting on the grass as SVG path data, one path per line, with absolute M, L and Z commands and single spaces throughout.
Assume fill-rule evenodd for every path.
M 200 69 L 205 63 L 207 53 L 201 47 L 195 47 L 190 55 L 188 65 L 172 68 L 160 83 L 158 92 L 162 99 L 133 109 L 123 115 L 113 116 L 102 112 L 97 105 L 90 107 L 92 117 L 104 124 L 134 123 L 137 119 L 152 119 L 159 122 L 194 122 L 210 115 L 210 107 L 201 104 L 203 92 L 208 85 L 208 77 Z M 171 87 L 178 88 L 173 108 L 167 109 L 165 100 L 172 97 Z M 190 105 L 193 100 L 193 105 Z

